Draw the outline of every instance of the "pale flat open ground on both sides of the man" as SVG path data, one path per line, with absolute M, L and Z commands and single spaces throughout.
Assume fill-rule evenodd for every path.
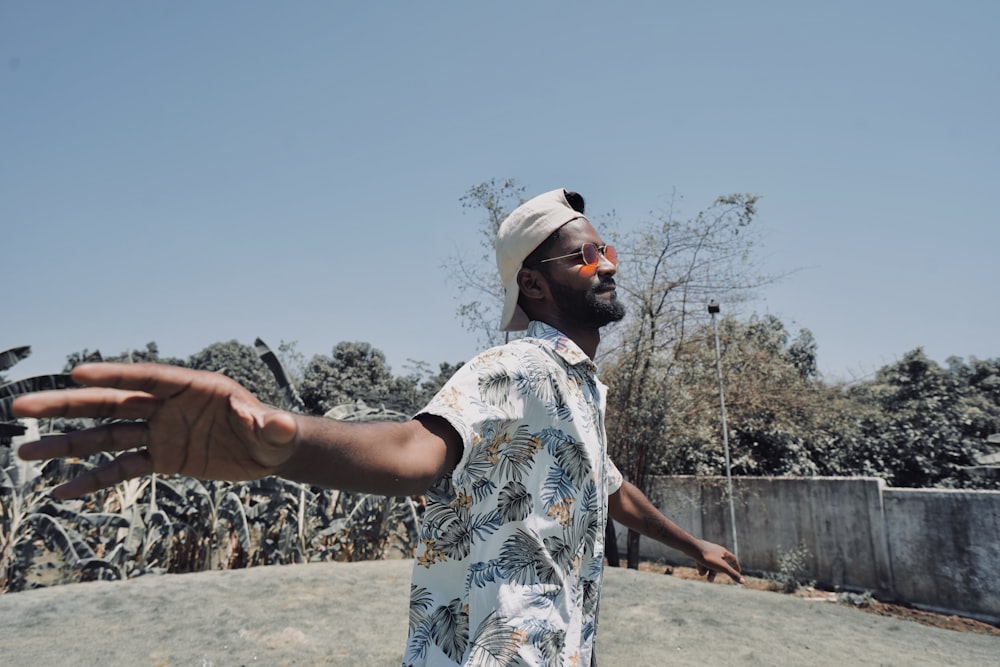
M 143 577 L 0 597 L 0 662 L 399 665 L 409 561 Z M 956 632 L 680 573 L 609 569 L 598 655 L 616 665 L 991 665 L 1000 636 Z

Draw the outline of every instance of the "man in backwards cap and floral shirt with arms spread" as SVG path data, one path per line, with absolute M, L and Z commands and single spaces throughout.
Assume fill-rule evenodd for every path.
M 404 663 L 594 664 L 609 517 L 683 551 L 710 578 L 742 578 L 733 554 L 669 521 L 608 458 L 592 360 L 601 327 L 624 308 L 617 255 L 583 211 L 582 197 L 560 189 L 503 222 L 501 329 L 527 336 L 465 364 L 408 423 L 306 417 L 221 375 L 98 364 L 74 370 L 86 388 L 19 398 L 15 412 L 135 421 L 23 445 L 21 455 L 124 452 L 62 496 L 153 472 L 425 493 Z

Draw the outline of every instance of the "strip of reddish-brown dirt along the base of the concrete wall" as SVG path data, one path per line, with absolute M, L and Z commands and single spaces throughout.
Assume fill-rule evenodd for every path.
M 690 567 L 678 567 L 659 563 L 643 562 L 640 563 L 639 570 L 643 572 L 668 574 L 677 577 L 678 579 L 685 579 L 688 581 L 705 581 L 705 577 L 699 576 L 698 572 L 694 568 Z M 774 583 L 767 579 L 759 577 L 744 578 L 746 579 L 745 585 L 747 588 L 758 591 L 770 591 L 779 595 L 786 595 L 785 593 L 774 590 Z M 723 579 L 720 578 L 715 583 L 728 584 L 730 582 L 728 580 L 723 581 Z M 787 595 L 801 598 L 815 598 L 830 602 L 838 601 L 838 594 L 836 592 L 824 591 L 811 586 L 803 586 L 796 592 Z M 975 632 L 977 634 L 995 635 L 1000 637 L 1000 627 L 990 625 L 989 623 L 984 623 L 982 621 L 977 621 L 972 618 L 964 618 L 962 616 L 953 616 L 949 614 L 937 614 L 930 611 L 924 611 L 922 609 L 916 609 L 914 607 L 908 607 L 906 605 L 880 602 L 870 597 L 861 598 L 861 596 L 858 596 L 858 598 L 859 599 L 855 604 L 851 604 L 849 602 L 842 602 L 841 604 L 869 614 L 875 614 L 876 616 L 899 618 L 933 628 L 943 628 L 945 630 L 954 630 L 956 632 Z

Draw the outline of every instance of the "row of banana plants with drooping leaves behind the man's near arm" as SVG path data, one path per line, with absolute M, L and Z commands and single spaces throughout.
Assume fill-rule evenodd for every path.
M 282 389 L 283 407 L 301 411 L 277 357 L 256 342 Z M 7 356 L 0 361 L 14 358 L 2 354 Z M 68 376 L 53 375 L 0 385 L 0 421 L 9 416 L 14 396 L 70 384 Z M 406 418 L 364 403 L 333 412 L 328 416 L 346 421 Z M 47 420 L 44 430 L 89 425 Z M 277 477 L 232 483 L 151 475 L 84 500 L 51 495 L 52 487 L 109 456 L 26 464 L 12 448 L 0 447 L 0 592 L 165 572 L 410 557 L 416 549 L 421 505 L 413 498 L 346 493 Z

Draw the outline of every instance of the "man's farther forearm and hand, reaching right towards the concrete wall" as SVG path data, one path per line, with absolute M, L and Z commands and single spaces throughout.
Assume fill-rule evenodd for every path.
M 665 517 L 634 484 L 624 482 L 608 496 L 608 509 L 611 518 L 626 528 L 690 556 L 698 563 L 699 571 L 708 574 L 709 581 L 714 581 L 716 573 L 722 572 L 733 581 L 743 583 L 735 554 L 723 546 L 698 539 Z

